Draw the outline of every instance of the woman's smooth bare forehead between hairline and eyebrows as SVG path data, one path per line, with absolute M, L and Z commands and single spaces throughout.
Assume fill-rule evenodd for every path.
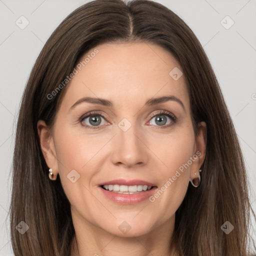
M 182 101 L 188 100 L 183 76 L 177 80 L 172 77 L 171 70 L 181 72 L 178 61 L 159 45 L 100 44 L 83 54 L 75 68 L 77 73 L 67 84 L 63 96 L 66 107 L 82 96 L 110 99 L 114 107 L 170 94 Z M 189 102 L 183 103 L 189 107 Z

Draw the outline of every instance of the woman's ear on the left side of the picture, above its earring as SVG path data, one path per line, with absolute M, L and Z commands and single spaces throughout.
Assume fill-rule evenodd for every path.
M 45 162 L 49 168 L 52 168 L 52 172 L 56 176 L 58 173 L 58 164 L 54 141 L 50 129 L 43 120 L 38 120 L 37 122 L 37 133 Z

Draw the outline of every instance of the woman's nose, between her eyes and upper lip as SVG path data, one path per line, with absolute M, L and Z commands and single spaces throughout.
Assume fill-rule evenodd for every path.
M 113 164 L 123 165 L 123 167 L 135 167 L 144 165 L 148 161 L 149 149 L 147 140 L 135 127 L 135 124 L 125 131 L 117 127 L 117 134 L 112 139 L 111 160 Z

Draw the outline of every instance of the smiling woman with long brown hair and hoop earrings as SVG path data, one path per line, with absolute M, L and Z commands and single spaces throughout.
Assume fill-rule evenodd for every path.
M 95 0 L 55 29 L 21 102 L 10 211 L 15 255 L 248 255 L 237 136 L 176 14 Z

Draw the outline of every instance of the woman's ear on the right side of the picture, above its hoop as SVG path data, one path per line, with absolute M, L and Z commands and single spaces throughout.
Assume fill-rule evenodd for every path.
M 195 138 L 196 149 L 194 151 L 194 155 L 197 156 L 196 159 L 193 161 L 190 170 L 190 179 L 198 178 L 199 176 L 199 169 L 205 159 L 205 152 L 206 152 L 206 123 L 200 122 L 198 124 L 198 135 Z M 195 158 L 195 157 L 194 157 Z M 203 170 L 202 170 L 203 171 Z M 195 173 L 195 174 L 194 174 Z

